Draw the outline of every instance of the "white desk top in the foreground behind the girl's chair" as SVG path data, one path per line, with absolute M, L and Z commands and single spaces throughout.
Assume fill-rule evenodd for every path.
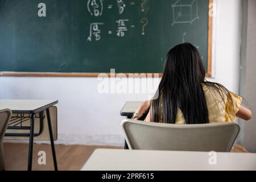
M 208 152 L 98 149 L 81 171 L 256 170 L 256 154 L 217 152 L 217 165 Z

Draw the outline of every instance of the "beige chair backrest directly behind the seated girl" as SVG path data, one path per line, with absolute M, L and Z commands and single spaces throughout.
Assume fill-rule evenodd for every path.
M 175 125 L 125 119 L 121 126 L 129 148 L 136 150 L 229 152 L 240 133 L 234 122 Z

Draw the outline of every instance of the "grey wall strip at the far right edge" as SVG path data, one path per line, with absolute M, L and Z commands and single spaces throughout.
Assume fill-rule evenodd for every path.
M 244 122 L 241 127 L 241 143 L 250 152 L 256 152 L 256 1 L 243 1 L 243 34 L 242 34 L 242 52 L 241 52 L 241 84 L 240 92 L 247 100 L 247 106 L 250 107 L 253 118 L 250 122 Z

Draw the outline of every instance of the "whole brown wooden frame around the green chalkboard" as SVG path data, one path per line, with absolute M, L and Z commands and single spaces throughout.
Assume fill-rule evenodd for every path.
M 210 5 L 213 0 L 209 0 L 209 9 L 212 10 Z M 213 11 L 213 10 L 212 10 Z M 208 67 L 205 77 L 212 77 L 212 28 L 213 20 L 212 16 L 208 14 Z M 101 73 L 53 73 L 53 72 L 0 72 L 0 76 L 7 77 L 98 77 Z M 110 73 L 106 73 L 105 76 L 110 77 Z M 129 73 L 118 74 L 115 73 L 116 77 L 128 77 Z M 135 77 L 137 77 L 136 75 Z M 146 77 L 162 77 L 163 73 L 146 73 Z M 140 77 L 140 75 L 139 75 Z M 144 75 L 142 76 L 144 77 Z

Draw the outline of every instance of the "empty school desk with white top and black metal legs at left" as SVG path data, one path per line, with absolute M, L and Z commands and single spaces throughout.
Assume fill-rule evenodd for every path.
M 52 147 L 52 156 L 53 156 L 53 163 L 55 170 L 57 171 L 57 161 L 56 161 L 56 154 L 55 154 L 55 147 L 53 142 L 53 135 L 52 135 L 52 126 L 51 126 L 51 117 L 49 114 L 49 107 L 56 105 L 58 101 L 53 100 L 0 100 L 0 109 L 10 109 L 16 118 L 20 118 L 19 122 L 27 121 L 30 119 L 30 127 L 25 126 L 9 126 L 7 127 L 8 130 L 30 130 L 29 134 L 17 134 L 17 133 L 8 133 L 6 136 L 15 136 L 15 137 L 30 137 L 29 140 L 29 147 L 28 147 L 28 171 L 32 169 L 32 154 L 33 154 L 33 142 L 34 136 L 38 135 L 34 133 L 34 122 L 35 122 L 35 115 L 39 113 L 40 122 L 43 121 L 42 112 L 46 110 L 46 117 L 48 122 L 49 128 L 49 137 L 51 140 L 51 147 Z M 24 117 L 24 114 L 28 114 L 28 117 Z

